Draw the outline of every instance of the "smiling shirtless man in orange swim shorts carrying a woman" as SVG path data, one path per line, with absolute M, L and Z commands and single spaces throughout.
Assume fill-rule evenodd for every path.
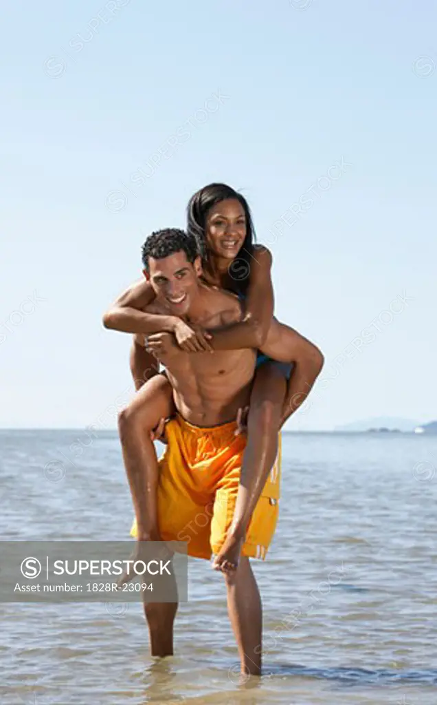
M 151 314 L 178 315 L 204 329 L 241 320 L 241 305 L 231 293 L 202 283 L 196 243 L 183 231 L 153 233 L 143 248 L 143 263 L 156 299 Z M 170 333 L 148 336 L 148 345 L 165 365 L 177 414 L 166 426 L 167 449 L 159 462 L 153 441 L 132 419 L 121 423 L 121 438 L 137 520 L 139 541 L 187 541 L 188 553 L 209 559 L 224 543 L 234 515 L 245 436 L 236 434 L 239 409 L 248 404 L 255 371 L 255 350 L 186 353 Z M 135 418 L 135 399 L 129 415 Z M 129 444 L 141 439 L 141 457 Z M 279 467 L 250 505 L 241 558 L 224 572 L 227 601 L 241 670 L 260 673 L 261 603 L 249 557 L 264 558 L 276 527 Z M 249 503 L 250 504 L 250 503 Z M 176 603 L 148 603 L 146 618 L 152 654 L 172 654 Z

